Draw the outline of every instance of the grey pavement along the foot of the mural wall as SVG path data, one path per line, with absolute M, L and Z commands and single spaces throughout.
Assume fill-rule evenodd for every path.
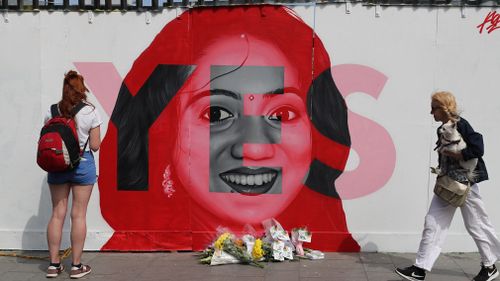
M 47 256 L 47 252 L 2 251 L 27 256 Z M 194 252 L 116 253 L 85 252 L 83 262 L 92 273 L 82 280 L 203 280 L 203 281 L 395 281 L 401 280 L 394 268 L 411 265 L 414 253 L 325 253 L 324 260 L 208 266 L 197 262 Z M 70 258 L 63 260 L 68 268 Z M 45 278 L 46 260 L 0 256 L 0 280 L 31 281 Z M 479 271 L 477 253 L 442 254 L 426 280 L 471 280 Z M 70 280 L 69 270 L 53 280 Z

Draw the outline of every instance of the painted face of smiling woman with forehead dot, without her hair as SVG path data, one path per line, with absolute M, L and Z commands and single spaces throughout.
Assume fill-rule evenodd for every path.
M 219 217 L 274 217 L 302 188 L 311 163 L 297 70 L 276 47 L 246 34 L 218 40 L 196 65 L 179 93 L 179 179 Z

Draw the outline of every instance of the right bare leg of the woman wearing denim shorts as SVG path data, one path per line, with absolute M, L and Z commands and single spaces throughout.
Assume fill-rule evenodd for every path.
M 73 264 L 79 264 L 82 258 L 83 245 L 87 236 L 87 206 L 93 185 L 74 185 L 73 203 L 71 207 L 71 247 Z

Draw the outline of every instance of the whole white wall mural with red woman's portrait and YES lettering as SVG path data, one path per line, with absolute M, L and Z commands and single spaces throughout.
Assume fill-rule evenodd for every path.
M 493 179 L 498 173 L 495 171 L 500 170 L 500 158 L 495 157 L 500 151 L 492 145 L 500 138 L 495 122 L 500 103 L 491 95 L 498 91 L 493 81 L 500 73 L 497 63 L 500 31 L 495 29 L 499 11 L 467 6 L 414 9 L 389 5 L 374 10 L 373 6 L 363 5 L 346 9 L 344 5 L 303 4 L 296 3 L 292 9 L 309 28 L 297 16 L 285 12 L 286 8 L 278 7 L 191 9 L 188 14 L 179 9 L 163 9 L 139 16 L 135 12 L 120 16 L 96 13 L 93 18 L 78 12 L 4 13 L 10 21 L 0 21 L 5 27 L 0 27 L 0 33 L 2 40 L 12 44 L 4 44 L 5 51 L 0 53 L 0 61 L 6 66 L 0 68 L 0 92 L 6 93 L 2 110 L 6 122 L 1 128 L 10 133 L 2 135 L 0 144 L 4 158 L 0 180 L 5 187 L 15 188 L 5 188 L 0 199 L 3 200 L 0 246 L 47 248 L 50 193 L 46 174 L 33 161 L 34 144 L 46 108 L 60 98 L 58 81 L 74 68 L 85 76 L 91 90 L 89 98 L 105 120 L 102 132 L 109 127 L 107 135 L 103 135 L 102 151 L 95 154 L 100 162 L 100 190 L 94 190 L 89 203 L 87 250 L 201 248 L 218 225 L 241 231 L 246 224 L 258 227 L 259 219 L 272 216 L 288 229 L 300 225 L 314 228 L 313 243 L 326 245 L 332 251 L 356 250 L 351 235 L 364 251 L 414 251 L 422 234 L 422 214 L 428 209 L 434 187 L 435 177 L 429 167 L 437 163 L 432 149 L 438 124 L 429 114 L 429 98 L 435 90 L 454 92 L 463 105 L 464 117 L 484 132 L 489 155 L 485 161 L 492 180 L 481 185 L 481 194 L 485 200 L 500 196 Z M 214 22 L 206 19 L 207 14 L 213 15 Z M 412 20 L 408 21 L 409 18 Z M 267 49 L 269 55 L 258 58 L 257 45 Z M 33 52 L 33 48 L 37 51 Z M 223 53 L 219 60 L 210 58 L 216 55 L 214 48 Z M 230 73 L 233 76 L 220 77 L 231 79 L 210 81 L 240 65 Z M 185 76 L 178 71 L 178 81 L 183 82 L 169 82 L 167 90 L 172 93 L 176 87 L 179 90 L 171 97 L 163 91 L 151 92 L 162 97 L 149 101 L 160 109 L 148 105 L 141 96 L 147 94 L 147 87 L 154 88 L 148 86 L 154 80 L 149 77 L 154 76 L 154 71 L 170 73 L 166 69 L 175 66 L 187 71 Z M 312 81 L 318 81 L 314 79 L 328 68 L 348 107 L 350 145 L 332 140 L 323 126 L 314 123 L 317 107 L 307 99 Z M 273 75 L 269 80 L 274 84 L 267 82 L 267 76 L 258 76 L 264 71 Z M 226 83 L 247 75 L 252 80 L 265 81 L 265 85 L 262 82 L 261 88 L 250 88 L 251 83 L 246 83 L 246 88 L 236 89 L 238 85 Z M 259 107 L 259 99 L 266 104 L 274 103 L 294 93 L 286 89 L 292 85 L 291 77 L 299 81 L 295 96 L 303 102 L 303 109 L 295 109 L 296 105 L 288 102 L 290 107 L 284 109 L 275 104 L 271 108 Z M 196 85 L 198 80 L 201 82 Z M 282 91 L 267 92 L 281 84 Z M 201 86 L 204 88 L 198 90 Z M 221 87 L 238 94 L 237 98 L 215 91 Z M 213 104 L 205 101 L 206 96 L 189 104 L 191 97 L 203 91 L 210 93 L 211 89 L 218 93 L 213 97 L 206 94 Z M 256 93 L 239 92 L 243 90 Z M 312 96 L 318 94 L 317 89 L 311 91 Z M 165 97 L 168 102 L 162 100 Z M 226 97 L 235 106 L 227 105 Z M 204 103 L 202 110 L 206 114 L 197 112 L 194 107 L 197 102 Z M 120 116 L 116 111 L 111 119 L 115 105 L 128 113 Z M 220 116 L 205 111 L 210 107 Z M 189 116 L 187 110 L 196 114 Z M 304 116 L 307 122 L 302 119 Z M 215 122 L 212 126 L 210 117 Z M 137 123 L 145 125 L 135 128 L 133 121 L 139 118 L 144 119 Z M 124 130 L 126 126 L 118 121 L 130 123 L 141 131 L 139 136 L 145 136 L 145 141 L 131 144 L 141 147 L 145 143 L 145 149 L 131 150 L 123 146 L 126 142 L 119 142 L 119 135 L 133 139 L 137 134 Z M 302 126 L 304 132 L 296 134 L 293 124 Z M 240 125 L 245 125 L 245 130 L 238 131 Z M 291 134 L 298 136 L 291 138 Z M 292 141 L 302 144 L 309 141 L 310 156 L 306 156 L 303 146 L 300 150 L 297 146 L 290 148 Z M 221 150 L 225 147 L 222 145 L 228 150 Z M 324 146 L 333 151 L 325 150 Z M 266 152 L 269 148 L 274 150 Z M 349 152 L 345 167 L 333 162 L 342 159 L 334 152 L 343 148 Z M 200 156 L 203 149 L 206 152 Z M 261 153 L 274 151 L 273 157 L 267 156 L 263 161 L 255 156 L 256 149 Z M 130 155 L 138 151 L 147 158 Z M 278 153 L 292 155 L 299 164 L 291 165 L 292 160 Z M 237 157 L 238 154 L 243 157 Z M 181 169 L 181 161 L 187 169 Z M 132 163 L 130 171 L 126 171 L 127 163 Z M 202 163 L 204 167 L 200 168 Z M 342 171 L 335 180 L 331 177 L 335 187 L 332 191 L 341 201 L 324 195 L 327 192 L 318 188 L 331 184 L 313 184 L 321 183 L 313 175 L 315 163 L 323 163 L 338 173 Z M 249 173 L 257 169 L 263 169 L 257 172 L 262 175 L 262 184 L 256 183 L 260 181 L 258 174 L 250 180 L 254 181 L 253 187 L 266 190 L 265 194 L 249 193 L 258 189 L 249 189 L 248 184 L 247 189 L 241 188 L 241 173 L 247 173 L 248 183 L 248 176 L 252 175 Z M 294 170 L 289 175 L 291 169 Z M 126 184 L 128 173 L 143 175 L 142 182 Z M 230 174 L 218 177 L 224 173 Z M 264 185 L 273 174 L 275 181 L 267 190 L 269 187 Z M 221 185 L 211 185 L 210 179 Z M 234 185 L 238 180 L 240 185 Z M 194 193 L 200 187 L 207 196 Z M 222 187 L 226 189 L 218 189 Z M 401 200 L 408 194 L 412 200 Z M 283 202 L 269 201 L 280 196 Z M 492 214 L 500 214 L 500 207 L 494 201 L 485 204 Z M 491 219 L 494 225 L 500 225 L 500 217 Z M 69 231 L 69 226 L 65 224 L 65 231 Z M 443 251 L 477 250 L 460 220 L 452 224 L 450 232 L 455 235 Z M 70 238 L 64 233 L 63 245 L 68 247 Z M 320 248 L 314 244 L 311 247 Z

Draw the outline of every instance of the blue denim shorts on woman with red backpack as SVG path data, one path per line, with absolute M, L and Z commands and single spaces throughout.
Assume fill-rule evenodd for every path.
M 85 151 L 80 164 L 73 170 L 60 173 L 48 173 L 49 184 L 72 183 L 78 185 L 93 185 L 97 179 L 94 155 Z

